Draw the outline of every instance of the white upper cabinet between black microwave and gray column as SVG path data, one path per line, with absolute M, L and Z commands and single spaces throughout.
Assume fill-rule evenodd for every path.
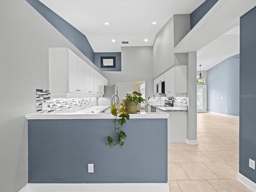
M 165 73 L 165 93 L 167 97 L 187 93 L 187 66 L 175 65 Z

